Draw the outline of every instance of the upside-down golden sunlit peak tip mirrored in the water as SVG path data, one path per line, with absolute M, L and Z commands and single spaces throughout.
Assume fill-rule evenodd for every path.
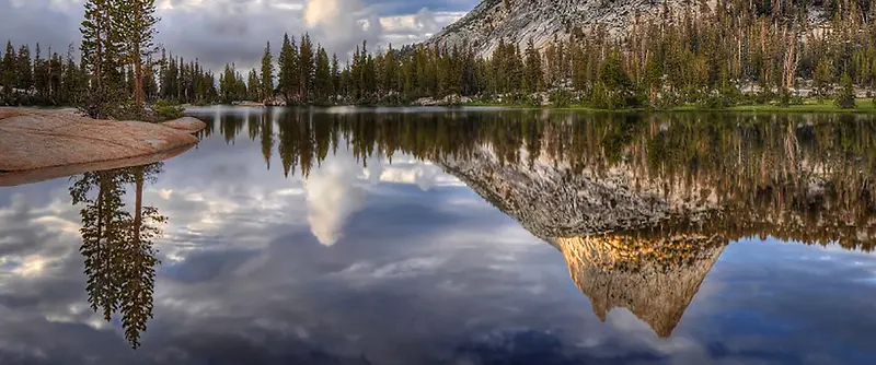
M 551 239 L 566 258 L 575 285 L 600 320 L 616 307 L 669 337 L 727 242 L 678 235 L 641 239 L 598 235 Z

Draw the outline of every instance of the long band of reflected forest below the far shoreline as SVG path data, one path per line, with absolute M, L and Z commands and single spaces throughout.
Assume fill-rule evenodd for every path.
M 244 121 L 243 116 L 227 115 L 212 122 L 234 126 L 219 128 L 233 143 Z M 673 200 L 678 207 L 699 208 L 667 211 L 672 219 L 659 220 L 661 226 L 682 229 L 696 221 L 695 229 L 722 231 L 730 238 L 772 235 L 808 244 L 875 247 L 871 237 L 876 225 L 868 220 L 876 212 L 876 126 L 866 116 L 268 109 L 262 121 L 249 122 L 260 125 L 249 128 L 251 137 L 261 132 L 266 163 L 278 130 L 276 152 L 287 177 L 308 177 L 338 148 L 362 166 L 401 153 L 445 164 L 451 174 L 456 165 L 486 157 L 496 169 L 545 173 L 550 166 L 550 173 L 558 174 L 552 177 L 555 182 L 608 180 L 622 172 L 630 189 L 654 202 Z M 497 203 L 512 191 L 494 192 L 495 199 L 493 193 L 485 198 Z M 572 200 L 556 205 L 578 207 Z M 578 226 L 567 233 L 619 228 L 623 227 Z

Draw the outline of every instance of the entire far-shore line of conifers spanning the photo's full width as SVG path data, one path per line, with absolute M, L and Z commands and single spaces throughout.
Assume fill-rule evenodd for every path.
M 122 3 L 116 3 L 113 7 L 122 10 L 115 12 L 124 13 L 117 2 Z M 402 49 L 390 45 L 369 51 L 362 43 L 341 64 L 336 55 L 330 57 L 309 35 L 298 39 L 286 35 L 276 55 L 268 43 L 257 69 L 244 76 L 235 64 L 227 64 L 218 80 L 197 60 L 186 62 L 163 54 L 154 61 L 151 35 L 143 42 L 105 30 L 87 32 L 90 27 L 83 26 L 81 66 L 73 62 L 71 52 L 66 59 L 51 54 L 43 60 L 38 50 L 32 58 L 26 46 L 15 50 L 10 44 L 0 87 L 4 104 L 70 104 L 77 102 L 78 90 L 93 91 L 101 84 L 97 81 L 105 80 L 118 91 L 110 95 L 137 104 L 166 99 L 395 105 L 461 95 L 495 103 L 550 101 L 555 106 L 606 109 L 721 108 L 789 105 L 814 96 L 854 107 L 855 86 L 876 87 L 876 7 L 856 0 L 832 0 L 818 7 L 816 11 L 808 2 L 718 0 L 714 8 L 691 5 L 677 13 L 665 5 L 659 14 L 636 16 L 625 34 L 570 24 L 567 39 L 555 38 L 546 45 L 530 39 L 526 46 L 502 40 L 488 57 L 480 57 L 468 45 Z M 92 24 L 91 28 L 104 24 L 97 20 L 105 13 L 87 12 L 83 24 Z M 126 19 L 112 13 L 111 19 Z M 814 22 L 817 16 L 829 19 Z M 151 34 L 154 23 L 147 25 L 141 31 Z M 107 36 L 96 39 L 101 34 Z M 102 43 L 102 49 L 118 51 L 102 52 L 97 67 L 90 50 Z M 138 43 L 140 50 L 135 51 L 130 45 Z M 95 78 L 99 71 L 112 74 Z

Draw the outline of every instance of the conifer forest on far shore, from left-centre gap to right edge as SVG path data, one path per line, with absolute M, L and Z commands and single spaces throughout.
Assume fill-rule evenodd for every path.
M 249 83 L 229 66 L 220 94 L 224 102 L 288 104 L 395 104 L 448 95 L 541 104 L 532 94 L 545 92 L 555 105 L 608 109 L 788 105 L 815 96 L 852 107 L 854 85 L 876 86 L 876 8 L 828 1 L 818 14 L 829 20 L 814 22 L 812 7 L 718 0 L 713 9 L 702 4 L 676 13 L 665 5 L 659 15 L 637 16 L 620 36 L 604 26 L 569 25 L 568 39 L 527 46 L 502 40 L 489 57 L 465 45 L 369 52 L 364 43 L 343 68 L 319 45 L 314 51 L 307 35 L 300 47 L 287 36 L 276 85 L 267 47 L 261 72 L 252 70 Z

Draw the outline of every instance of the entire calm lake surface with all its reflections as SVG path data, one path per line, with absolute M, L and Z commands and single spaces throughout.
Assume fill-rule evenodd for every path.
M 876 117 L 188 114 L 0 188 L 0 364 L 876 363 Z

